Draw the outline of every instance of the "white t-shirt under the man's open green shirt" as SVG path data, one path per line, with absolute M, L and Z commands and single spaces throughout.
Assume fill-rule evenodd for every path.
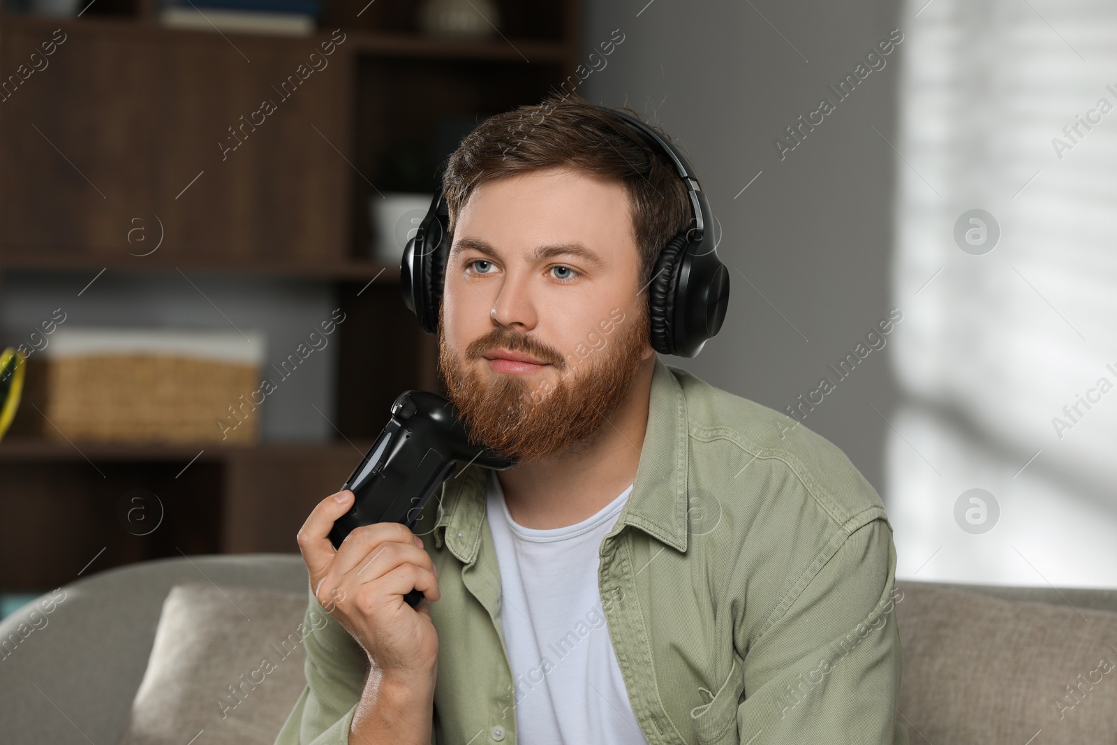
M 500 567 L 500 621 L 519 745 L 647 745 L 598 590 L 598 551 L 632 487 L 598 514 L 552 529 L 512 519 L 496 471 L 486 517 Z

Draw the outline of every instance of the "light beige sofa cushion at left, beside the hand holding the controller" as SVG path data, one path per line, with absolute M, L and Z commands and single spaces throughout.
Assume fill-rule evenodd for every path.
M 120 745 L 271 745 L 306 686 L 306 598 L 172 588 Z

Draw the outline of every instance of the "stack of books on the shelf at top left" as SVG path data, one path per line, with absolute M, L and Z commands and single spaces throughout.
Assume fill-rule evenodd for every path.
M 164 26 L 237 34 L 313 34 L 319 0 L 166 0 Z

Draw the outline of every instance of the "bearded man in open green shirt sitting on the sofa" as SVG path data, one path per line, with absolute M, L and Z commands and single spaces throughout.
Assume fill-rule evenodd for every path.
M 439 370 L 518 462 L 336 553 L 352 495 L 315 507 L 317 631 L 277 745 L 907 743 L 879 497 L 649 342 L 657 252 L 691 217 L 665 155 L 566 97 L 484 122 L 442 183 Z

